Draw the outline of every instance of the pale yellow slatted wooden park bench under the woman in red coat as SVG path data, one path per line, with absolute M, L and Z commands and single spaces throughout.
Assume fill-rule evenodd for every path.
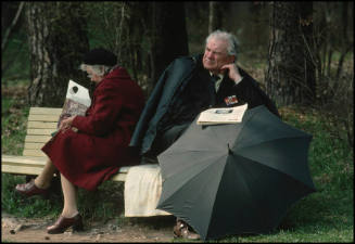
M 47 162 L 41 147 L 56 130 L 56 123 L 62 108 L 30 107 L 27 123 L 27 134 L 22 156 L 1 155 L 1 172 L 18 175 L 39 175 Z M 113 181 L 125 181 L 129 166 L 121 167 Z

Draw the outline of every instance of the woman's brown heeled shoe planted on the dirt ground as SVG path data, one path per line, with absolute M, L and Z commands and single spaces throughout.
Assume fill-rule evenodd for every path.
M 64 231 L 69 227 L 73 227 L 74 231 L 83 230 L 83 218 L 80 214 L 77 214 L 73 218 L 65 218 L 61 216 L 53 226 L 47 228 L 47 233 L 61 234 L 64 233 Z

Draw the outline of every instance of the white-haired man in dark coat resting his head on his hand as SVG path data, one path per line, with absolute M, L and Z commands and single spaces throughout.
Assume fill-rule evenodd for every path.
M 204 110 L 248 103 L 265 105 L 279 116 L 275 104 L 258 84 L 236 64 L 237 39 L 215 30 L 206 38 L 204 54 L 179 57 L 162 74 L 134 132 L 135 146 L 143 163 L 165 151 Z M 176 236 L 191 236 L 177 221 Z

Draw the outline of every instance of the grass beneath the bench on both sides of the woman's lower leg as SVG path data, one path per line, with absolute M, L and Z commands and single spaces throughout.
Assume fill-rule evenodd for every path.
M 24 176 L 2 174 L 2 210 L 14 216 L 27 218 L 45 216 L 56 218 L 61 214 L 63 208 L 63 196 L 61 191 L 54 192 L 49 198 L 43 198 L 41 196 L 27 198 L 14 191 L 16 184 L 24 182 Z M 83 217 L 89 221 L 106 221 L 113 217 L 118 217 L 122 215 L 124 209 L 123 183 L 106 181 L 103 182 L 94 192 L 79 189 L 78 208 Z

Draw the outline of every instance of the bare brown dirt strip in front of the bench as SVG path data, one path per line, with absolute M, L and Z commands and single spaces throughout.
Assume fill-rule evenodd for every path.
M 46 228 L 54 222 L 53 219 L 16 218 L 2 214 L 1 242 L 172 242 L 174 219 L 167 216 L 159 218 L 164 227 L 154 227 L 147 220 L 122 224 L 112 220 L 106 223 L 85 222 L 81 232 L 73 232 L 69 228 L 63 234 L 48 234 Z

